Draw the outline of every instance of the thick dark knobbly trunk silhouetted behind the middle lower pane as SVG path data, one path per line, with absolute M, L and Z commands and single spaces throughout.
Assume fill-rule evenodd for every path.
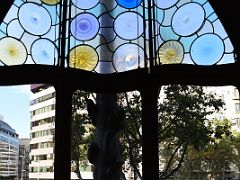
M 94 164 L 95 180 L 120 180 L 122 161 L 119 131 L 124 113 L 117 105 L 116 94 L 98 94 L 96 102 L 96 140 L 88 150 Z

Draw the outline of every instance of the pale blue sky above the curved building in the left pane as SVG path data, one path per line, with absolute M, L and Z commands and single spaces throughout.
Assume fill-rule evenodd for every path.
M 30 85 L 0 86 L 0 115 L 19 138 L 30 137 Z

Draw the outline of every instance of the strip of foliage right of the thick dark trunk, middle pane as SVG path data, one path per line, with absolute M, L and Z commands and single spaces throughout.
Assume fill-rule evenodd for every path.
M 123 159 L 129 161 L 130 167 L 141 178 L 139 165 L 142 161 L 142 132 L 141 132 L 141 96 L 139 92 L 119 95 L 119 104 L 125 111 L 127 126 L 121 133 Z

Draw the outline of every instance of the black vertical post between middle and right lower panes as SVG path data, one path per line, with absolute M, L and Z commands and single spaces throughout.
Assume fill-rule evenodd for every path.
M 158 89 L 141 91 L 142 96 L 142 162 L 143 179 L 159 179 L 158 157 Z

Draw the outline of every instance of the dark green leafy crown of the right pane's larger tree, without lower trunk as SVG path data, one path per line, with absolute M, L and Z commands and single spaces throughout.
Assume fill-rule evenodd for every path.
M 159 104 L 159 141 L 177 145 L 188 141 L 196 149 L 208 143 L 211 130 L 206 116 L 220 110 L 222 100 L 199 86 L 171 85 L 164 94 Z

